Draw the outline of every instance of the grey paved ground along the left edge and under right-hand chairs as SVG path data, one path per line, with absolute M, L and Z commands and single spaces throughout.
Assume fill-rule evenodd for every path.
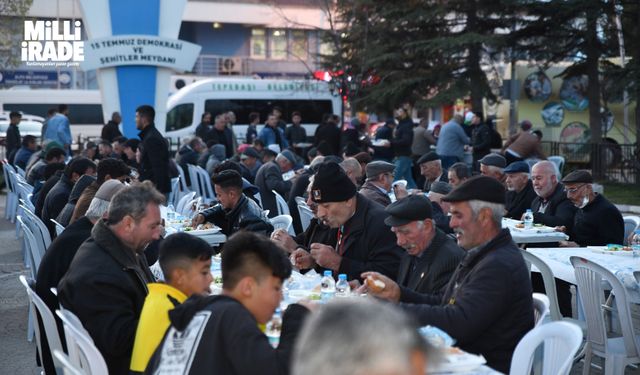
M 4 219 L 6 195 L 0 195 L 0 374 L 39 374 L 36 367 L 35 339 L 27 341 L 28 301 L 18 276 L 28 274 L 22 263 L 20 242 L 15 225 Z M 594 361 L 601 364 L 599 359 Z M 582 363 L 574 366 L 572 375 L 582 373 Z M 602 374 L 593 369 L 591 374 Z M 640 374 L 627 368 L 626 374 Z

